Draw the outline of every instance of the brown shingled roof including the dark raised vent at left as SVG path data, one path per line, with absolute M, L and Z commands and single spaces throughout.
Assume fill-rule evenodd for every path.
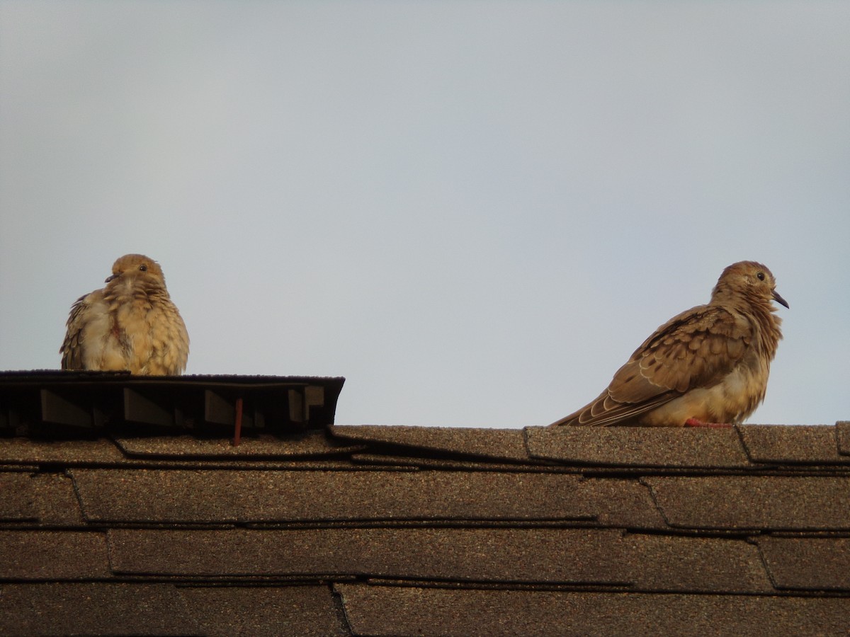
M 850 631 L 850 422 L 338 426 L 342 379 L 139 381 L 0 375 L 0 634 Z

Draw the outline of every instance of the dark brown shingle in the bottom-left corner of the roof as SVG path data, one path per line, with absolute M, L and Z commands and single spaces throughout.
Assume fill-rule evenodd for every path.
M 0 634 L 200 635 L 168 584 L 26 583 L 0 589 Z

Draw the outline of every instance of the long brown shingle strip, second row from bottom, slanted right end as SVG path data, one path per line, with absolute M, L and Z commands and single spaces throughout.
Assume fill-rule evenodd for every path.
M 308 577 L 593 584 L 773 592 L 743 539 L 623 535 L 594 528 L 112 529 L 121 575 Z

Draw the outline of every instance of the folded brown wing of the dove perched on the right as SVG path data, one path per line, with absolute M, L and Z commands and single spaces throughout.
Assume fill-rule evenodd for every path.
M 740 362 L 752 338 L 752 325 L 740 314 L 693 307 L 643 341 L 596 400 L 553 425 L 614 425 L 715 385 Z

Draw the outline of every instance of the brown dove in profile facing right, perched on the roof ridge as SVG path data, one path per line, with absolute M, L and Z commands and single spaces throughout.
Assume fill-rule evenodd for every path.
M 782 338 L 774 275 L 742 261 L 723 270 L 708 305 L 674 316 L 617 370 L 592 403 L 558 425 L 728 426 L 757 408 Z

